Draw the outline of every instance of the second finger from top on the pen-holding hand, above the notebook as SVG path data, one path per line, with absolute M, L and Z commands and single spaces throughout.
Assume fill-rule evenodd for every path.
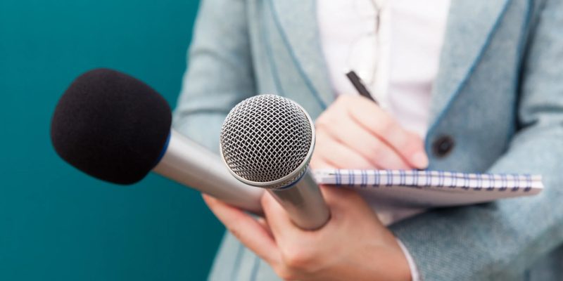
M 410 169 L 400 155 L 387 143 L 381 141 L 374 133 L 367 131 L 358 122 L 348 115 L 343 115 L 337 124 L 324 126 L 320 124 L 320 130 L 339 141 L 346 147 L 358 152 L 373 167 L 384 169 Z M 350 137 L 352 136 L 352 137 Z M 347 166 L 350 168 L 350 166 Z M 372 168 L 372 167 L 369 167 Z

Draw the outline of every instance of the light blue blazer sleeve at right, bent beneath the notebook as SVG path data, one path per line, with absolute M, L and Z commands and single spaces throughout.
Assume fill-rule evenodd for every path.
M 521 129 L 490 171 L 542 174 L 545 190 L 391 226 L 423 280 L 517 280 L 563 242 L 563 1 L 544 5 L 524 58 Z

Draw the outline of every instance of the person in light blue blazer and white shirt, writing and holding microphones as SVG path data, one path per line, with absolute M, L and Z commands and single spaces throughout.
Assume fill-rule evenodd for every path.
M 238 238 L 224 238 L 211 280 L 563 276 L 563 2 L 418 2 L 204 0 L 176 129 L 216 151 L 236 103 L 277 93 L 316 119 L 315 168 L 533 173 L 545 191 L 387 228 L 381 219 L 401 214 L 378 217 L 369 200 L 323 187 L 332 217 L 312 232 L 267 194 L 258 219 L 205 197 Z

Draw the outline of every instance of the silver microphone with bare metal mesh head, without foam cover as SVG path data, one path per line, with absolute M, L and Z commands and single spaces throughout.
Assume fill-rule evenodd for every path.
M 220 135 L 223 162 L 239 181 L 266 188 L 296 226 L 315 230 L 330 217 L 308 172 L 315 126 L 303 107 L 275 95 L 253 96 L 236 105 Z

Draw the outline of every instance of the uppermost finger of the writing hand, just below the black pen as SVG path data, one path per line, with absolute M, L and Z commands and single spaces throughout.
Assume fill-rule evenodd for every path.
M 366 103 L 365 100 L 358 100 L 348 109 L 348 114 L 352 119 L 358 122 L 360 126 L 379 136 L 388 145 L 391 145 L 406 162 L 421 169 L 428 166 L 428 157 L 424 152 L 424 145 L 419 136 L 403 129 L 378 105 Z

